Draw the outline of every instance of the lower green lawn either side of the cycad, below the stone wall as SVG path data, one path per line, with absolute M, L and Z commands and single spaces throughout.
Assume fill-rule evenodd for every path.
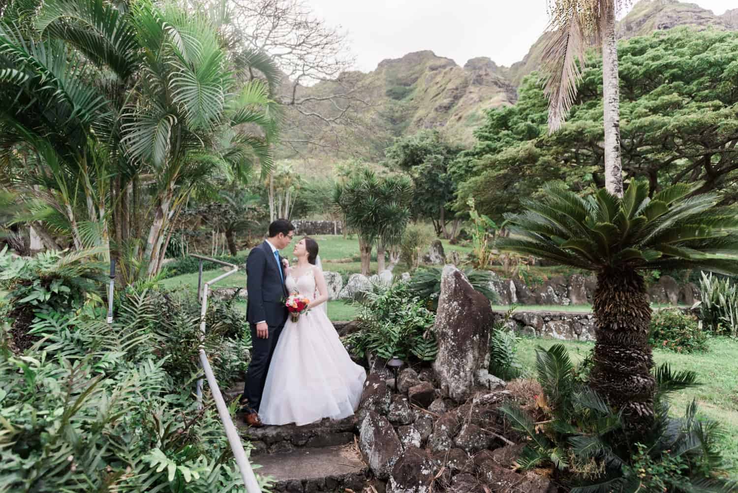
M 523 338 L 518 344 L 518 356 L 525 374 L 534 376 L 535 347 L 546 349 L 556 343 L 565 344 L 573 361 L 579 362 L 594 346 L 591 342 L 556 341 Z M 693 399 L 697 399 L 700 416 L 723 424 L 725 458 L 731 461 L 732 475 L 738 475 L 738 341 L 724 337 L 710 340 L 707 353 L 677 354 L 654 350 L 656 364 L 669 363 L 672 370 L 697 372 L 700 387 L 673 395 L 672 413 L 681 415 Z

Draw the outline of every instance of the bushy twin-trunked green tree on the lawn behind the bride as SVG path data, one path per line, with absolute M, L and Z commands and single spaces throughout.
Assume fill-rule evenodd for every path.
M 369 275 L 371 251 L 377 245 L 377 268 L 384 270 L 384 248 L 399 243 L 410 220 L 412 184 L 407 177 L 377 177 L 364 168 L 345 184 L 337 184 L 334 203 L 345 225 L 359 237 L 362 274 Z

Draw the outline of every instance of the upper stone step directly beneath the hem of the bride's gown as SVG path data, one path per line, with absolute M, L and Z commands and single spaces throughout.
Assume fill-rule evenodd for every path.
M 255 454 L 274 454 L 300 448 L 318 448 L 354 443 L 356 417 L 297 426 L 263 426 L 252 428 L 239 417 L 235 422 L 241 436 L 251 441 Z

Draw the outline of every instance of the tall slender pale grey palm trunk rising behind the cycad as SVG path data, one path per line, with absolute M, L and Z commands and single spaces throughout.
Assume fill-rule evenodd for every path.
M 620 79 L 618 43 L 615 39 L 615 4 L 606 2 L 602 16 L 602 99 L 604 108 L 604 180 L 611 194 L 623 196 L 620 154 Z

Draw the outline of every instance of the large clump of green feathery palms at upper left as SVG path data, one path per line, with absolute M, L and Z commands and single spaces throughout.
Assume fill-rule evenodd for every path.
M 196 188 L 272 167 L 277 70 L 228 53 L 213 22 L 173 5 L 49 0 L 30 18 L 0 24 L 0 98 L 12 102 L 0 148 L 29 156 L 13 185 L 63 217 L 76 248 L 107 246 L 113 230 L 139 265 L 131 276 L 156 273 Z M 267 80 L 244 82 L 247 69 Z

